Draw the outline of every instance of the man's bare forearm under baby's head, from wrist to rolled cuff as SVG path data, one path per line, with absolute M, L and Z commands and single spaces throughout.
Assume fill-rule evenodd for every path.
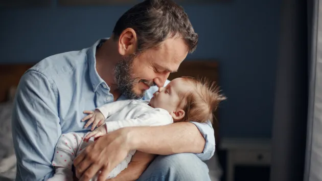
M 178 122 L 157 127 L 131 127 L 127 131 L 130 148 L 146 153 L 161 155 L 183 152 L 202 153 L 205 145 L 205 139 L 192 123 Z

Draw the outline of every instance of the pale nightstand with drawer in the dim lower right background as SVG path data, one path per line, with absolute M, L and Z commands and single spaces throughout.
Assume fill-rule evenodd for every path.
M 220 149 L 227 150 L 227 181 L 235 180 L 235 167 L 238 165 L 270 166 L 271 141 L 269 139 L 222 138 Z

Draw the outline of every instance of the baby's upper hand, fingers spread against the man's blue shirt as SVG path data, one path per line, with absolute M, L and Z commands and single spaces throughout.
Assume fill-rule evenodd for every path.
M 93 123 L 90 129 L 91 131 L 93 131 L 96 126 L 97 127 L 101 126 L 105 121 L 104 115 L 101 113 L 101 111 L 97 109 L 95 111 L 84 110 L 83 112 L 88 115 L 84 117 L 82 121 L 86 121 L 89 119 L 85 124 L 84 128 L 87 128 L 91 123 Z

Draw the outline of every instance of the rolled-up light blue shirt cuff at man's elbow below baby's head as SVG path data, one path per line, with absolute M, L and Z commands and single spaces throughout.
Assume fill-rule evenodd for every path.
M 205 139 L 205 145 L 202 153 L 196 153 L 200 160 L 205 161 L 211 159 L 215 153 L 215 132 L 210 122 L 207 123 L 193 123 Z

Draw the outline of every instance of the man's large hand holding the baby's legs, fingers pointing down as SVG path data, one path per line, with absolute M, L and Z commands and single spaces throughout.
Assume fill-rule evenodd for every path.
M 121 128 L 88 145 L 74 160 L 76 176 L 80 181 L 87 181 L 101 171 L 98 181 L 105 180 L 131 150 L 129 139 L 128 131 Z

